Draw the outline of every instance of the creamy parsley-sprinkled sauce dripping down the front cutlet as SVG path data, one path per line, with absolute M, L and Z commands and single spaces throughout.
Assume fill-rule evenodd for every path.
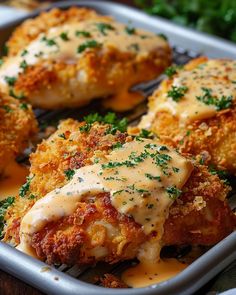
M 139 258 L 158 259 L 169 207 L 192 172 L 191 162 L 148 139 L 126 143 L 97 161 L 35 203 L 22 220 L 19 249 L 29 252 L 32 235 L 71 215 L 84 196 L 108 192 L 119 213 L 132 216 L 147 236 L 154 236 L 141 247 Z

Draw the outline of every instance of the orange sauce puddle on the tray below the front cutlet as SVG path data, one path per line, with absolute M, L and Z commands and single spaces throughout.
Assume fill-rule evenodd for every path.
M 122 281 L 133 288 L 142 288 L 152 284 L 167 281 L 188 265 L 176 259 L 164 259 L 157 263 L 140 263 L 122 274 Z

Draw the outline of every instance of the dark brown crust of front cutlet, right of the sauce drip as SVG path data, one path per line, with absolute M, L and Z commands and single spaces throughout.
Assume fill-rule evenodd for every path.
M 225 197 L 228 188 L 206 167 L 195 167 L 165 223 L 165 245 L 214 245 L 236 226 Z

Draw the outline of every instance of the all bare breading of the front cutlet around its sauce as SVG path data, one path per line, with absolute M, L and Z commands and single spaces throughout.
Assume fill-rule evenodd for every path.
M 21 218 L 35 200 L 68 182 L 68 169 L 89 165 L 92 157 L 109 153 L 117 142 L 132 140 L 119 131 L 107 134 L 109 125 L 95 123 L 82 132 L 84 126 L 71 119 L 62 122 L 31 156 L 32 179 L 25 196 L 17 199 L 6 214 L 5 241 L 19 244 Z M 195 165 L 181 196 L 170 208 L 163 244 L 212 245 L 228 235 L 236 222 L 225 200 L 228 191 L 217 175 L 211 175 L 205 166 Z M 109 193 L 100 193 L 84 196 L 73 214 L 34 233 L 32 247 L 49 263 L 115 263 L 137 257 L 140 246 L 152 235 L 146 235 L 132 216 L 119 213 Z

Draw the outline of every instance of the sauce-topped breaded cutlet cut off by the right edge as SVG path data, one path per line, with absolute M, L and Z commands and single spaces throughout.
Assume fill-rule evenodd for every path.
M 236 61 L 201 57 L 167 70 L 139 128 L 207 165 L 236 173 Z

